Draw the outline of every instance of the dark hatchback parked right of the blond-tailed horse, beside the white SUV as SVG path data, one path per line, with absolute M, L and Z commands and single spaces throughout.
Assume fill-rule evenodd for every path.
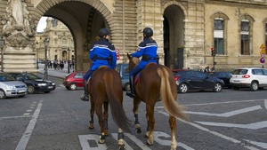
M 222 91 L 224 86 L 223 80 L 201 71 L 174 69 L 173 72 L 177 91 L 181 93 L 192 90 L 219 92 Z

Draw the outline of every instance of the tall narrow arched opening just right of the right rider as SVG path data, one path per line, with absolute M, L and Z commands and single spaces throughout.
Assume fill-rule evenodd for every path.
M 183 67 L 184 13 L 176 5 L 168 5 L 164 11 L 165 65 L 171 68 Z

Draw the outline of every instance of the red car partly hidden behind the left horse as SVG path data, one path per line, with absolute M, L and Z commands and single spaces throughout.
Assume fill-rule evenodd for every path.
M 69 73 L 65 76 L 62 83 L 66 87 L 66 89 L 75 91 L 77 90 L 77 87 L 84 87 L 84 75 L 84 72 Z

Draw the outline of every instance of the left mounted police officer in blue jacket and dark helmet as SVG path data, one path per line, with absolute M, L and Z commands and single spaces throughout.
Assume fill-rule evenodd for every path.
M 114 46 L 109 43 L 109 30 L 107 28 L 101 28 L 99 30 L 99 37 L 100 40 L 93 43 L 89 59 L 92 59 L 92 66 L 91 68 L 85 73 L 84 75 L 84 90 L 85 93 L 81 96 L 81 100 L 89 101 L 88 95 L 88 88 L 87 88 L 87 81 L 93 74 L 93 71 L 96 70 L 98 67 L 106 66 L 109 68 L 115 68 L 117 62 L 116 50 Z

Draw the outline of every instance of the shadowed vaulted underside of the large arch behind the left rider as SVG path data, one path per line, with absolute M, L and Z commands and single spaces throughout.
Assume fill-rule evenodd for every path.
M 107 21 L 111 14 L 109 9 L 100 1 L 42 1 L 36 8 L 44 13 L 43 16 L 61 20 L 69 28 L 74 41 L 75 64 L 77 64 L 75 69 L 87 70 L 90 63 L 89 45 L 95 41 L 100 28 L 110 27 Z

